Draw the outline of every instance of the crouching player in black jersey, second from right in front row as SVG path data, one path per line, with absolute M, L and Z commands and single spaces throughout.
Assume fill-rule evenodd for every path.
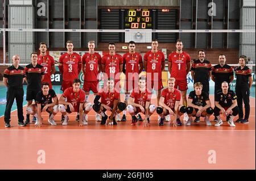
M 188 122 L 187 126 L 191 125 L 192 116 L 196 117 L 205 117 L 205 123 L 210 126 L 209 117 L 213 113 L 213 109 L 210 107 L 210 99 L 207 92 L 202 91 L 203 84 L 201 82 L 196 82 L 194 84 L 194 91 L 191 91 L 188 96 L 188 107 L 187 107 L 187 114 L 188 114 Z

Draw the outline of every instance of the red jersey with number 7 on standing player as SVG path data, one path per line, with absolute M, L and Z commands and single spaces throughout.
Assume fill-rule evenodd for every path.
M 123 54 L 123 63 L 126 65 L 125 75 L 127 81 L 133 81 L 133 77 L 128 77 L 128 73 L 138 73 L 139 75 L 139 64 L 142 64 L 141 54 L 135 52 L 131 54 L 129 52 Z

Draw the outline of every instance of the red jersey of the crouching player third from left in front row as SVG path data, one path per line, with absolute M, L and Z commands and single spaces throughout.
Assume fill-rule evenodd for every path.
M 105 104 L 111 108 L 114 107 L 114 100 L 117 100 L 120 97 L 120 93 L 118 93 L 118 91 L 104 92 L 104 89 L 98 92 L 98 95 L 101 96 L 101 104 Z

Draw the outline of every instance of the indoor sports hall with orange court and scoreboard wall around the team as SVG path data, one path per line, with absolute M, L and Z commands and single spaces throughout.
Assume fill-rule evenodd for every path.
M 2 13 L 3 12 L 3 13 Z M 211 126 L 192 121 L 186 126 L 174 127 L 170 121 L 159 126 L 156 111 L 150 117 L 150 126 L 138 121 L 131 125 L 131 116 L 117 125 L 101 125 L 96 112 L 88 113 L 88 125 L 79 127 L 76 113 L 69 114 L 68 125 L 62 125 L 61 113 L 54 117 L 57 125 L 48 123 L 43 112 L 42 127 L 34 123 L 18 125 L 16 100 L 11 107 L 11 127 L 5 127 L 7 87 L 4 71 L 13 65 L 18 54 L 20 66 L 31 63 L 31 53 L 38 52 L 39 44 L 46 42 L 47 54 L 55 62 L 51 75 L 52 89 L 57 98 L 63 94 L 63 75 L 59 58 L 67 52 L 66 42 L 73 41 L 73 51 L 81 57 L 88 52 L 88 41 L 95 42 L 95 51 L 101 56 L 109 53 L 109 42 L 115 43 L 115 52 L 129 52 L 129 41 L 135 41 L 135 51 L 144 54 L 158 40 L 158 50 L 165 57 L 162 84 L 168 87 L 168 55 L 176 51 L 176 40 L 183 42 L 183 51 L 192 61 L 199 59 L 198 51 L 205 51 L 211 66 L 219 64 L 225 54 L 226 64 L 234 70 L 230 90 L 236 88 L 236 70 L 239 56 L 247 57 L 251 71 L 249 123 L 235 123 L 230 127 L 226 117 L 223 124 Z M 118 0 L 2 0 L 0 3 L 0 169 L 86 169 L 86 170 L 180 170 L 180 169 L 255 169 L 255 2 L 250 0 L 172 0 L 172 1 L 118 1 Z M 140 75 L 146 75 L 143 70 Z M 85 75 L 86 76 L 86 75 Z M 82 71 L 78 77 L 84 84 Z M 98 81 L 103 86 L 103 81 Z M 187 98 L 193 91 L 191 71 L 187 74 Z M 125 74 L 120 75 L 120 102 L 125 99 Z M 26 119 L 27 83 L 23 85 L 23 115 Z M 209 99 L 214 108 L 214 82 L 209 78 Z M 89 102 L 94 103 L 90 91 Z M 151 103 L 158 105 L 156 91 Z M 245 112 L 245 107 L 243 112 Z M 110 112 L 107 111 L 107 114 Z M 123 113 L 120 113 L 121 117 Z M 141 113 L 144 117 L 144 114 Z M 193 120 L 195 118 L 193 117 Z M 234 117 L 234 121 L 238 116 Z M 32 120 L 32 116 L 30 116 Z

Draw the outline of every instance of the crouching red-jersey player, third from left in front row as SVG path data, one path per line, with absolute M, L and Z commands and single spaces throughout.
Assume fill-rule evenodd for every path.
M 100 99 L 101 101 L 99 101 Z M 120 93 L 115 89 L 114 79 L 109 78 L 106 89 L 104 88 L 98 92 L 94 99 L 93 110 L 101 114 L 101 125 L 105 125 L 106 120 L 108 119 L 108 116 L 105 113 L 106 111 L 111 111 L 111 115 L 109 116 L 109 125 L 117 125 L 115 115 L 126 108 L 126 104 L 119 101 Z

